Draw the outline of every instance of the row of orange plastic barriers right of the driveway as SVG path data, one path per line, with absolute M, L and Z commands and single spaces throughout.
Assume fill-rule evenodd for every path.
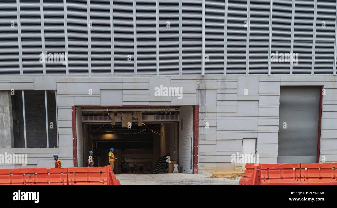
M 246 164 L 240 185 L 337 185 L 337 163 Z

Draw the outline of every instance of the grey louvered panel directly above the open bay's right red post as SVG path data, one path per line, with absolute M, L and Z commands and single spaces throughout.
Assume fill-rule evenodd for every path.
M 183 1 L 182 74 L 201 74 L 202 0 Z

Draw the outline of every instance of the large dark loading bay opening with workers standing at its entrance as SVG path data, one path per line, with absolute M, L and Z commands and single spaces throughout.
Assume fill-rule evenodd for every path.
M 73 106 L 74 167 L 87 166 L 89 150 L 94 151 L 95 166 L 108 165 L 107 155 L 114 147 L 117 174 L 151 173 L 165 155 L 179 164 L 180 172 L 197 173 L 195 109 L 197 106 Z M 138 126 L 137 118 L 132 118 L 130 128 L 122 127 L 122 117 L 117 113 L 137 111 L 143 112 L 143 125 Z M 111 113 L 115 115 L 114 125 Z

